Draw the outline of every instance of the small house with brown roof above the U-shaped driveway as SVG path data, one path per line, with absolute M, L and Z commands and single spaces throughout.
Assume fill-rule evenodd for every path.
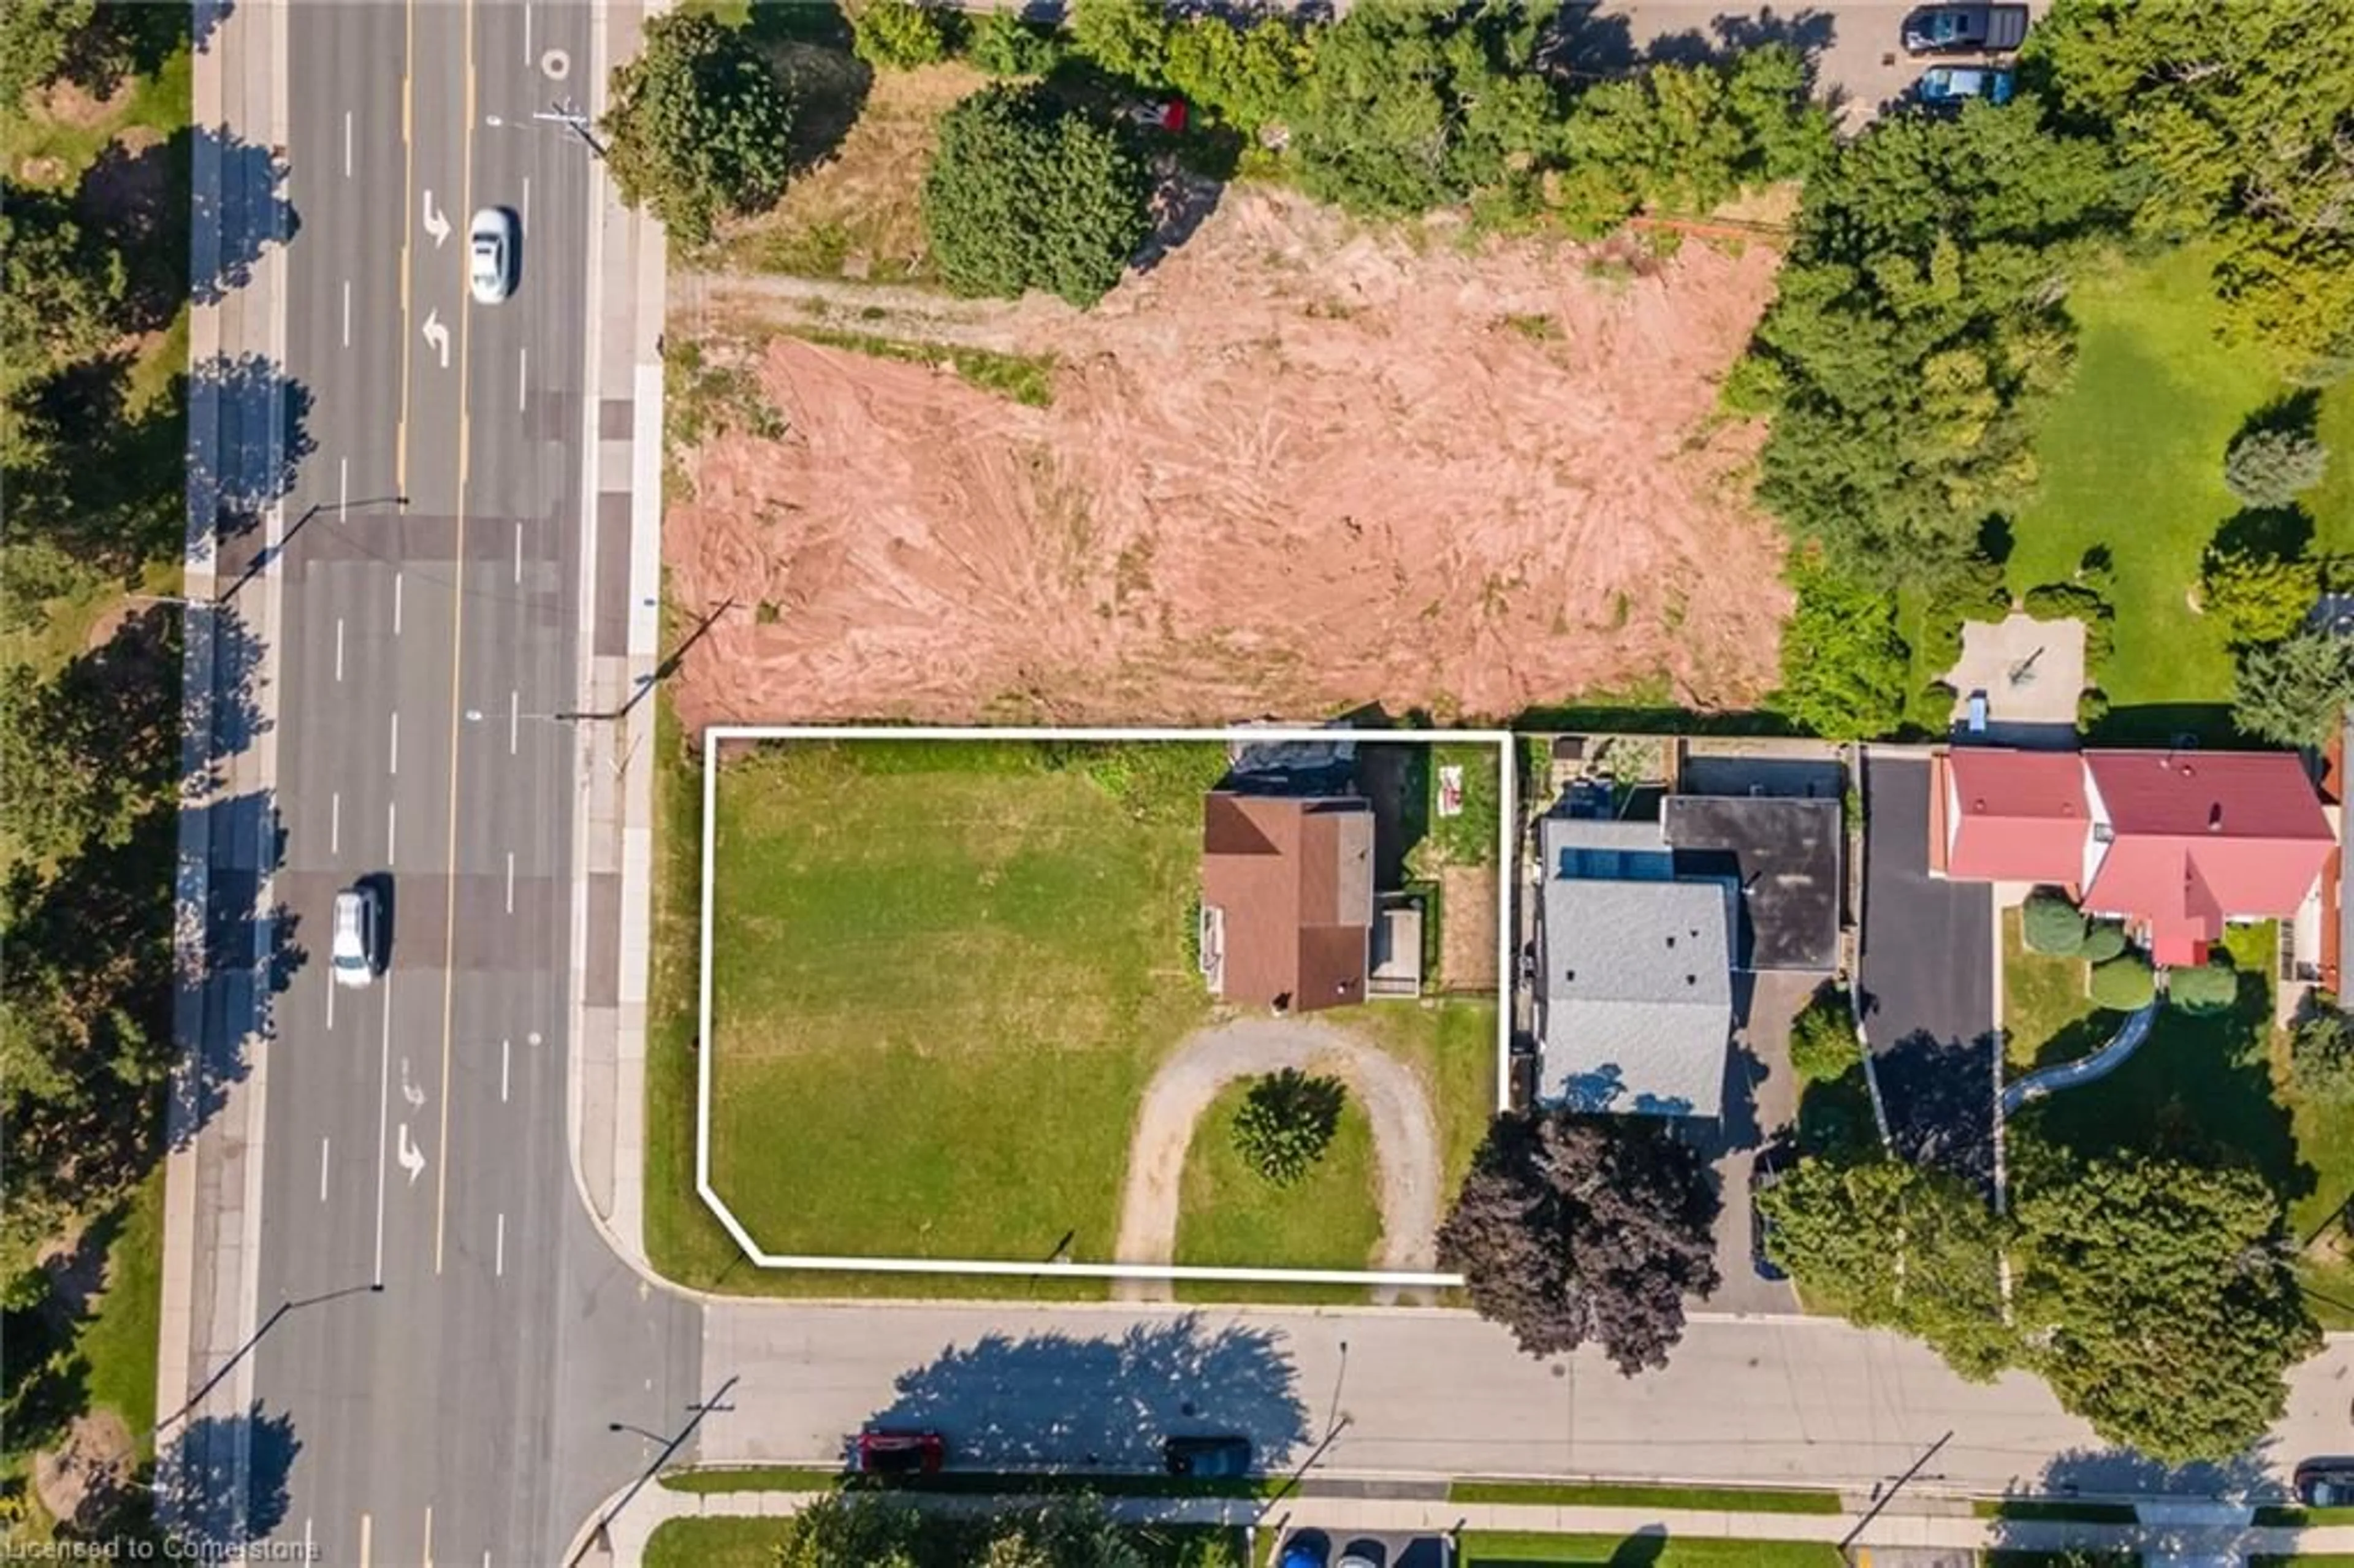
M 1201 972 L 1222 1001 L 1314 1012 L 1365 1001 L 1372 803 L 1215 789 L 1201 824 Z

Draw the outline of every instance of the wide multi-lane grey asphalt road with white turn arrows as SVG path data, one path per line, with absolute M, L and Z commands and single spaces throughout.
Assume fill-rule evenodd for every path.
M 676 1429 L 694 1314 L 593 1236 L 565 1144 L 572 730 L 593 278 L 588 148 L 532 122 L 584 5 L 294 5 L 285 374 L 308 391 L 278 636 L 275 1003 L 254 1396 L 273 1535 L 330 1563 L 553 1561 Z M 492 120 L 504 125 L 492 125 Z M 520 287 L 466 290 L 478 207 Z M 398 504 L 393 497 L 405 497 Z M 334 892 L 391 965 L 327 977 Z M 381 1290 L 363 1290 L 381 1285 Z M 558 1377 L 558 1368 L 563 1375 Z M 275 1504 L 257 1509 L 268 1526 Z

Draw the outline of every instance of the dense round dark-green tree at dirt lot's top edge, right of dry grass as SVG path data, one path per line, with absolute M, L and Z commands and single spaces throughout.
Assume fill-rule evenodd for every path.
M 1128 137 L 1038 85 L 984 87 L 939 120 L 923 233 L 958 294 L 1040 287 L 1092 306 L 1151 231 Z

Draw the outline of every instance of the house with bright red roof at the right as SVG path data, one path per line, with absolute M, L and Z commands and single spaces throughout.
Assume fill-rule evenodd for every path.
M 1930 871 L 2050 883 L 2156 963 L 2203 963 L 2232 921 L 2290 918 L 2338 848 L 2286 751 L 2006 751 L 1933 758 Z

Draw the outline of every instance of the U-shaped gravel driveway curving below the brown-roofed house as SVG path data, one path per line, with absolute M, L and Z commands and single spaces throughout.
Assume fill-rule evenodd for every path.
M 1238 1019 L 1186 1036 L 1144 1090 L 1128 1144 L 1121 1262 L 1170 1262 L 1186 1144 L 1203 1111 L 1236 1078 L 1297 1067 L 1332 1074 L 1372 1118 L 1379 1172 L 1382 1269 L 1431 1269 L 1438 1234 L 1438 1125 L 1422 1083 L 1365 1041 L 1309 1019 Z M 1266 1260 L 1281 1264 L 1283 1260 Z M 1123 1281 L 1123 1300 L 1170 1300 L 1158 1281 Z

